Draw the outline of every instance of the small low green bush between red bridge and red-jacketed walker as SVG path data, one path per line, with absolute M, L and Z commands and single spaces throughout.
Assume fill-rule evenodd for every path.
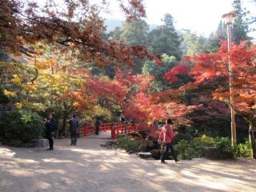
M 134 152 L 140 152 L 145 150 L 145 143 L 125 136 L 118 137 L 117 146 L 126 151 L 133 150 Z

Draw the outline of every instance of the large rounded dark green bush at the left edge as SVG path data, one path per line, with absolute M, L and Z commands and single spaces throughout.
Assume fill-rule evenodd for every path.
M 13 110 L 2 115 L 0 127 L 2 138 L 20 139 L 22 142 L 32 142 L 45 129 L 42 118 L 30 110 Z

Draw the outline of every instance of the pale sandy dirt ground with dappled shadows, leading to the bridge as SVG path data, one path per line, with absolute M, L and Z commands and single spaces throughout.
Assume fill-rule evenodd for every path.
M 110 133 L 55 140 L 54 151 L 0 146 L 0 191 L 256 191 L 256 161 L 143 160 L 99 144 Z

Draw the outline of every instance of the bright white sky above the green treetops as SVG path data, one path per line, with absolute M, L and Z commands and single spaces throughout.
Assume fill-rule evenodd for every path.
M 214 32 L 222 15 L 233 10 L 233 0 L 144 0 L 146 7 L 146 22 L 149 24 L 162 24 L 161 18 L 170 13 L 174 17 L 174 26 L 177 30 L 188 29 L 194 33 L 208 36 Z M 256 2 L 242 0 L 242 6 L 250 13 L 256 13 Z M 106 18 L 123 18 L 116 1 L 110 1 L 111 14 L 105 14 Z M 256 28 L 256 26 L 255 26 Z M 250 33 L 256 38 L 256 32 Z

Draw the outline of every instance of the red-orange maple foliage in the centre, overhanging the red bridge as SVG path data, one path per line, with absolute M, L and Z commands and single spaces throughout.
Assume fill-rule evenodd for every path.
M 90 78 L 82 89 L 90 91 L 96 98 L 106 99 L 110 110 L 119 106 L 118 109 L 126 118 L 134 119 L 137 123 L 153 123 L 171 117 L 175 124 L 187 124 L 188 119 L 184 115 L 193 106 L 182 104 L 175 90 L 150 92 L 153 80 L 153 76 L 146 74 L 117 70 L 113 80 L 106 77 Z

